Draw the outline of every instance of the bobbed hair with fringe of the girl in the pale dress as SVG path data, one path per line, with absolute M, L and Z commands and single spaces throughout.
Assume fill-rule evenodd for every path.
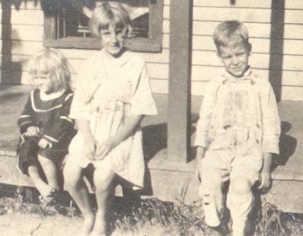
M 125 36 L 130 34 L 130 16 L 125 8 L 117 2 L 104 2 L 94 8 L 92 18 L 89 20 L 89 29 L 94 37 L 101 38 L 101 29 L 109 29 L 110 26 L 117 29 L 126 29 Z

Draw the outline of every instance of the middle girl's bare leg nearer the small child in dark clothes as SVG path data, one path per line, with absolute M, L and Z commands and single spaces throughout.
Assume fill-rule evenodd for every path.
M 89 201 L 87 185 L 83 180 L 82 168 L 73 163 L 73 161 L 67 160 L 63 169 L 63 176 L 65 190 L 68 190 L 70 196 L 73 197 L 84 217 L 81 233 L 83 236 L 87 236 L 94 227 L 95 215 L 92 204 Z

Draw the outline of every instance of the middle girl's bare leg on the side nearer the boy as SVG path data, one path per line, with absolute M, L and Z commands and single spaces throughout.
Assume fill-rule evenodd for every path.
M 105 235 L 105 216 L 111 205 L 113 195 L 113 177 L 115 172 L 112 169 L 95 169 L 94 185 L 96 188 L 97 214 L 94 223 L 94 230 L 91 235 Z

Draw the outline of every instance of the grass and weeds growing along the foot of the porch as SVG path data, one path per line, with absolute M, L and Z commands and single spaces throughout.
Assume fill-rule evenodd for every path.
M 80 211 L 66 195 L 61 196 L 56 204 L 47 206 L 39 204 L 35 191 L 34 194 L 26 191 L 22 194 L 15 190 L 10 196 L 0 196 L 0 215 L 17 211 L 24 214 L 38 214 L 42 218 L 57 215 L 70 218 L 81 217 Z M 28 196 L 31 199 L 27 199 Z M 120 235 L 125 235 L 125 232 L 131 232 L 132 235 L 210 235 L 211 229 L 204 222 L 201 206 L 200 201 L 188 205 L 184 204 L 182 199 L 172 203 L 149 198 L 140 200 L 125 209 L 123 199 L 116 198 L 108 221 L 111 230 L 121 232 Z M 302 221 L 301 214 L 283 213 L 264 200 L 261 202 L 259 211 L 256 212 L 252 235 L 303 235 Z M 155 229 L 158 232 L 151 234 L 151 232 L 155 233 Z

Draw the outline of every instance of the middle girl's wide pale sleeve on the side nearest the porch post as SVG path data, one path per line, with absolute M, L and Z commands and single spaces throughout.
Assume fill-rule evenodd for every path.
M 147 68 L 145 65 L 142 67 L 140 78 L 137 81 L 135 93 L 133 94 L 130 103 L 130 114 L 158 114 L 156 110 L 156 103 L 152 96 L 152 89 L 149 84 L 149 76 L 147 74 Z

